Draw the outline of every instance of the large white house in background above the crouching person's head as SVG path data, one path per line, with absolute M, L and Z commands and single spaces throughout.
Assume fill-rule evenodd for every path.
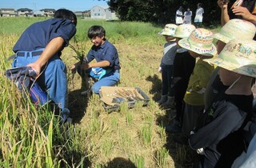
M 92 19 L 106 19 L 117 20 L 115 13 L 109 7 L 94 6 L 90 9 L 90 18 Z

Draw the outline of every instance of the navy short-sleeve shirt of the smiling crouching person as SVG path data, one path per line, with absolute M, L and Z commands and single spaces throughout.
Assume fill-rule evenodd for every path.
M 87 54 L 87 61 L 91 62 L 96 59 L 97 62 L 108 61 L 110 68 L 120 70 L 118 50 L 109 41 L 105 41 L 102 46 L 92 46 Z

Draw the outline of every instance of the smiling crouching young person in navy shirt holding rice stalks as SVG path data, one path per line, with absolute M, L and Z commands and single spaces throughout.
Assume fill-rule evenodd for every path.
M 80 65 L 80 62 L 76 63 L 73 70 L 80 66 L 82 70 L 86 70 L 90 74 L 94 74 L 94 70 L 102 70 L 102 73 L 104 71 L 104 75 L 100 75 L 98 81 L 92 87 L 94 93 L 99 94 L 101 86 L 114 86 L 119 82 L 121 67 L 118 50 L 106 40 L 106 30 L 102 26 L 91 26 L 87 35 L 94 45 L 91 47 L 82 65 Z M 94 59 L 97 62 L 91 62 Z

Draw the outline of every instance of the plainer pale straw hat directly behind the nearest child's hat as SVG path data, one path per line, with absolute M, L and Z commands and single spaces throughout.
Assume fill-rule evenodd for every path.
M 214 34 L 213 37 L 227 43 L 234 38 L 252 40 L 255 32 L 256 27 L 253 23 L 234 18 L 226 22 L 222 29 L 217 34 Z

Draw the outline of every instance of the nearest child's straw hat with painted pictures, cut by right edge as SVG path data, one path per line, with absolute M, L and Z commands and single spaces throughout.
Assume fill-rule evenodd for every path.
M 256 78 L 256 41 L 233 39 L 226 44 L 218 57 L 204 61 Z

